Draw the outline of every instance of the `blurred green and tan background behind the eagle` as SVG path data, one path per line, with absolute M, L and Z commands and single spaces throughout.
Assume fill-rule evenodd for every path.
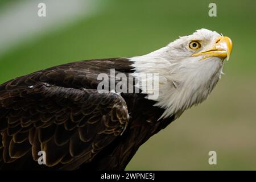
M 5 31 L 8 23 L 3 26 L 1 16 L 11 16 L 14 6 L 30 2 L 0 1 L 0 33 L 6 39 L 1 44 L 0 38 L 0 49 L 9 36 L 19 34 L 19 27 L 11 29 L 13 34 Z M 40 19 L 53 18 L 53 9 L 47 1 L 47 17 L 39 18 L 39 2 L 46 1 L 33 1 L 33 16 L 40 24 Z M 217 5 L 217 17 L 208 16 L 210 2 Z M 89 15 L 73 16 L 62 26 L 56 21 L 31 36 L 28 27 L 27 37 L 12 40 L 0 52 L 0 82 L 71 61 L 143 55 L 197 29 L 215 30 L 233 41 L 225 75 L 207 101 L 143 144 L 126 169 L 256 169 L 256 1 L 96 0 L 90 6 Z M 217 165 L 208 164 L 212 150 L 217 152 Z

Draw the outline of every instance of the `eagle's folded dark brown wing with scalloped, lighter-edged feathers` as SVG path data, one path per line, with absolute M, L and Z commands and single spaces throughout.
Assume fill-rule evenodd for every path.
M 2 168 L 28 154 L 36 161 L 43 150 L 46 166 L 74 169 L 122 133 L 129 121 L 125 100 L 98 93 L 94 73 L 81 67 L 61 65 L 0 85 Z

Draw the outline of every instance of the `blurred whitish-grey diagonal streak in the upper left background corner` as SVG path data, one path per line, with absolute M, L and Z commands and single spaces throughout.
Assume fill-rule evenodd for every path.
M 14 1 L 15 2 L 15 1 Z M 38 4 L 46 4 L 46 17 Z M 96 13 L 95 0 L 30 0 L 9 3 L 0 11 L 0 55 L 15 45 L 47 31 L 58 30 L 79 18 Z

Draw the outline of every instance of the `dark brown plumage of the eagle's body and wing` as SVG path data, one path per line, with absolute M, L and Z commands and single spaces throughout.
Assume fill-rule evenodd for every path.
M 128 75 L 127 59 L 44 69 L 0 85 L 1 169 L 125 169 L 148 138 L 166 127 L 144 94 L 97 92 L 99 73 Z M 129 117 L 129 115 L 130 117 Z M 39 165 L 39 151 L 46 165 Z

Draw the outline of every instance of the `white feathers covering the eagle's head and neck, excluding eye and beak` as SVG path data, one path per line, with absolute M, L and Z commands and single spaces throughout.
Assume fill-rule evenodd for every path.
M 208 50 L 220 36 L 215 31 L 201 29 L 147 55 L 131 57 L 133 76 L 159 74 L 159 97 L 155 99 L 155 106 L 165 109 L 160 118 L 173 114 L 179 117 L 185 109 L 207 99 L 221 76 L 223 59 L 207 57 L 202 60 L 203 56 L 192 54 Z M 192 40 L 199 40 L 201 48 L 190 49 Z

